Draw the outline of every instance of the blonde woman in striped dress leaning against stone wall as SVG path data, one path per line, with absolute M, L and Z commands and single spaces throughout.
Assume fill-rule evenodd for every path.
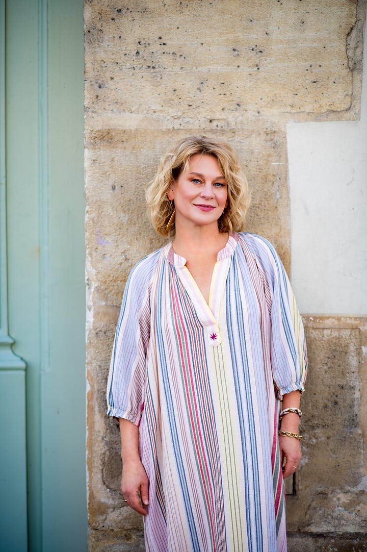
M 124 501 L 148 551 L 286 550 L 306 375 L 288 278 L 264 238 L 237 233 L 249 194 L 225 142 L 181 141 L 147 202 L 173 241 L 132 270 L 116 330 L 107 397 Z

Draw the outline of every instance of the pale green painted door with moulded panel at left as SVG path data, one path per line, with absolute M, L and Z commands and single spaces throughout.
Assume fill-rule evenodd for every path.
M 83 1 L 0 8 L 0 552 L 82 552 Z

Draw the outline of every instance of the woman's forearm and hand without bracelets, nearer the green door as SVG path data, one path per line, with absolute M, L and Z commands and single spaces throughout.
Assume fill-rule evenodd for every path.
M 139 427 L 124 418 L 119 418 L 119 422 L 123 460 L 121 492 L 131 508 L 146 516 L 149 481 L 139 457 Z

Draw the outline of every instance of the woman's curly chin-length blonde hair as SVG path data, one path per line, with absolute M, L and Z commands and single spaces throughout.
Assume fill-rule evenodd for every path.
M 174 223 L 167 228 L 174 209 L 167 195 L 169 185 L 188 168 L 190 158 L 197 154 L 215 157 L 226 179 L 228 203 L 218 220 L 219 231 L 241 232 L 244 229 L 244 217 L 251 198 L 246 177 L 232 147 L 224 140 L 188 136 L 161 157 L 156 177 L 146 189 L 148 215 L 160 236 L 168 236 L 175 231 Z

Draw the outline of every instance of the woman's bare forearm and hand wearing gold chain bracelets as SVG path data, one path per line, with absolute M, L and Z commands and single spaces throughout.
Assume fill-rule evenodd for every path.
M 284 395 L 283 410 L 285 410 L 285 408 L 291 407 L 299 408 L 300 398 L 300 391 L 291 391 L 290 393 Z M 299 423 L 299 416 L 297 414 L 294 414 L 293 412 L 289 412 L 282 418 L 280 429 L 281 431 L 286 431 L 289 433 L 298 433 Z M 285 461 L 285 464 L 283 466 L 283 477 L 285 479 L 286 477 L 294 474 L 300 464 L 302 458 L 301 443 L 295 437 L 279 436 L 279 447 L 282 465 Z

